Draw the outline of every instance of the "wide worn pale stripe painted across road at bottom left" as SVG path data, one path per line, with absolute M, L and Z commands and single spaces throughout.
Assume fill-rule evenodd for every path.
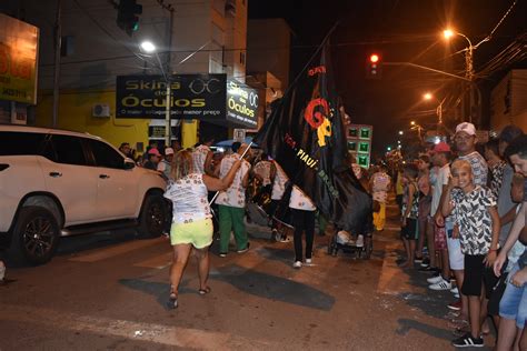
M 0 304 L 0 320 L 41 324 L 58 330 L 73 330 L 96 334 L 128 338 L 156 342 L 170 347 L 198 350 L 235 350 L 251 345 L 255 349 L 270 349 L 269 342 L 246 339 L 223 332 L 141 323 L 127 320 L 95 318 L 89 315 L 59 312 L 34 307 Z

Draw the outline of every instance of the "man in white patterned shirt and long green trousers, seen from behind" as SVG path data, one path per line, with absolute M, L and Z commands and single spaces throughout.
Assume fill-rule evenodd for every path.
M 241 159 L 248 147 L 246 143 L 232 143 L 232 153 L 221 160 L 220 178 L 223 178 L 232 164 Z M 246 157 L 250 157 L 250 150 L 246 153 Z M 219 209 L 220 257 L 226 257 L 229 251 L 230 231 L 235 233 L 237 252 L 242 253 L 249 250 L 247 230 L 243 222 L 249 170 L 250 163 L 243 160 L 230 187 L 221 191 L 216 199 Z

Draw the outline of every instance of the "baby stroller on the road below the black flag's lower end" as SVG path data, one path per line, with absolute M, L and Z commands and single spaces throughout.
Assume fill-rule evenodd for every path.
M 351 253 L 359 259 L 369 259 L 372 251 L 371 234 L 351 235 L 345 230 L 338 230 L 329 238 L 328 254 L 336 257 L 338 251 Z

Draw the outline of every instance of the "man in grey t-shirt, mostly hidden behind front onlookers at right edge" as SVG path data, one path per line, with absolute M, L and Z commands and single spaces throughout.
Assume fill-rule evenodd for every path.
M 506 126 L 501 132 L 499 133 L 499 156 L 504 157 L 505 149 L 508 144 L 516 139 L 517 137 L 521 136 L 524 132 L 516 126 L 509 124 Z M 507 160 L 508 161 L 508 160 Z M 501 181 L 501 188 L 499 188 L 498 192 L 498 213 L 499 218 L 503 218 L 513 208 L 515 208 L 515 203 L 510 198 L 510 184 L 513 182 L 514 170 L 510 164 L 507 162 L 507 166 L 504 170 L 504 180 Z M 509 235 L 511 223 L 507 223 L 501 225 L 499 231 L 499 247 L 505 244 L 507 237 Z

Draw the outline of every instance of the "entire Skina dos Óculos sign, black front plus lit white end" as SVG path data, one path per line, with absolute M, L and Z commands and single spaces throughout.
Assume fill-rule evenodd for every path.
M 258 93 L 226 74 L 177 74 L 170 81 L 170 117 L 256 128 Z M 117 118 L 165 119 L 167 82 L 162 76 L 118 76 Z

